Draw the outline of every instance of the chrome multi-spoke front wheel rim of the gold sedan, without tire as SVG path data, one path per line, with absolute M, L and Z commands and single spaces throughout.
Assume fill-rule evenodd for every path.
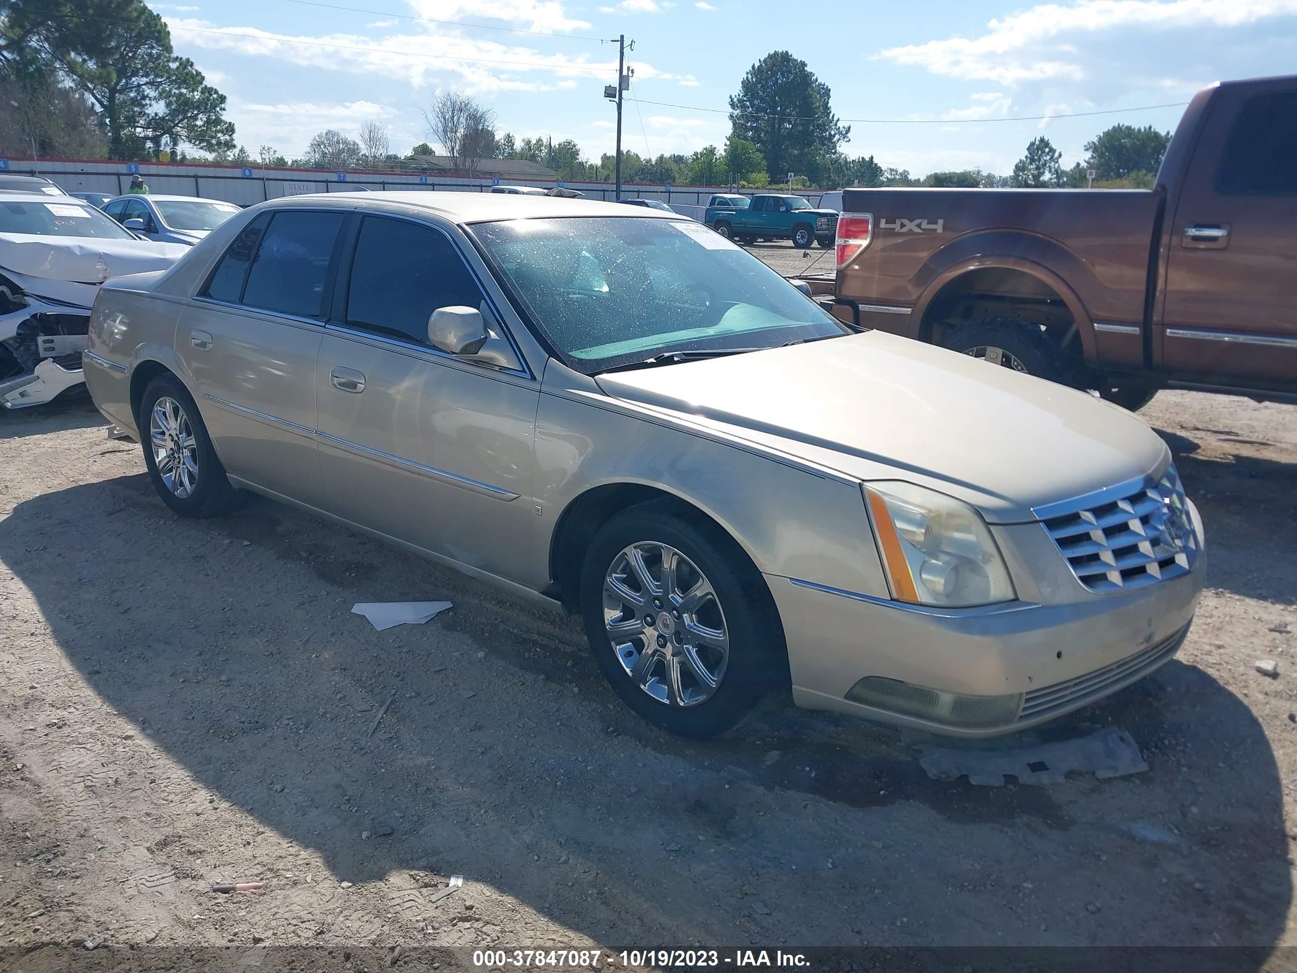
M 725 679 L 730 636 L 716 589 L 668 544 L 638 541 L 612 559 L 603 624 L 626 676 L 663 706 L 704 703 Z

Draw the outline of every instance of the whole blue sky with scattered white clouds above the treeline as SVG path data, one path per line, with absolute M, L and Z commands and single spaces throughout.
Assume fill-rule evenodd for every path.
M 405 154 L 449 90 L 499 132 L 612 152 L 616 38 L 634 69 L 623 147 L 722 147 L 728 97 L 770 51 L 807 62 L 851 126 L 843 150 L 921 176 L 1005 174 L 1047 135 L 1064 163 L 1110 125 L 1175 128 L 1214 80 L 1297 70 L 1297 0 L 185 0 L 150 4 L 228 96 L 236 139 L 292 157 L 323 128 L 388 127 Z M 805 16 L 813 9 L 813 17 Z M 464 26 L 472 25 L 472 26 Z M 1161 105 L 1162 108 L 1153 108 Z M 1115 114 L 1027 121 L 1021 115 Z M 848 121 L 851 119 L 851 121 Z

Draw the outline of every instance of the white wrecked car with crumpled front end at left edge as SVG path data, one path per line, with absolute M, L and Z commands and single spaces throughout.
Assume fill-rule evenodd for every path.
M 40 405 L 79 385 L 100 284 L 188 252 L 140 240 L 70 196 L 0 195 L 0 405 Z

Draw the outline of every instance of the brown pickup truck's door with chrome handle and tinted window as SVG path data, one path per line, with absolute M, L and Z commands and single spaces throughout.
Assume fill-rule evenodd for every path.
M 1297 86 L 1226 87 L 1210 112 L 1171 223 L 1162 359 L 1202 381 L 1291 385 Z

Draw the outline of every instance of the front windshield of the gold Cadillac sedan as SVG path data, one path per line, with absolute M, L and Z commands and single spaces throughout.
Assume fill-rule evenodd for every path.
M 669 352 L 847 333 L 761 261 L 694 221 L 515 219 L 472 230 L 550 344 L 586 375 Z

